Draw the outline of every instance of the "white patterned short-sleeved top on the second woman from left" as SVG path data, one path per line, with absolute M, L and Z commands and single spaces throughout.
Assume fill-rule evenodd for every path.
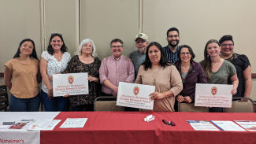
M 63 72 L 65 68 L 67 68 L 68 63 L 71 59 L 70 54 L 68 52 L 65 52 L 61 58 L 61 61 L 58 62 L 57 59 L 54 57 L 54 55 L 51 55 L 48 53 L 48 51 L 43 51 L 41 54 L 41 57 L 46 59 L 47 61 L 47 76 L 52 76 L 55 73 Z M 53 87 L 53 81 L 50 81 L 50 85 Z M 48 93 L 48 89 L 46 85 L 43 83 L 42 80 L 42 87 L 41 89 L 43 92 Z

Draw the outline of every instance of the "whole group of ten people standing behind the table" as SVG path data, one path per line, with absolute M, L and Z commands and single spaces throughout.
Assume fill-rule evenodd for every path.
M 102 61 L 91 39 L 84 39 L 76 55 L 70 57 L 62 35 L 54 33 L 40 61 L 35 43 L 24 39 L 17 54 L 5 64 L 5 83 L 11 92 L 9 111 L 38 111 L 41 98 L 45 111 L 67 111 L 69 104 L 73 111 L 93 111 L 100 87 L 101 96 L 117 96 L 119 82 L 155 86 L 155 92 L 149 95 L 154 100 L 154 111 L 173 112 L 178 102 L 194 102 L 196 83 L 232 84 L 233 97 L 250 97 L 250 61 L 247 56 L 233 52 L 232 35 L 224 35 L 219 41 L 210 39 L 204 59 L 199 63 L 193 60 L 195 54 L 191 46 L 179 46 L 177 28 L 170 28 L 166 35 L 168 45 L 165 47 L 149 42 L 144 33 L 135 35 L 138 50 L 130 57 L 122 55 L 124 42 L 113 39 L 112 55 Z M 53 74 L 78 72 L 88 72 L 89 94 L 53 97 Z M 210 112 L 222 112 L 222 109 L 210 108 Z

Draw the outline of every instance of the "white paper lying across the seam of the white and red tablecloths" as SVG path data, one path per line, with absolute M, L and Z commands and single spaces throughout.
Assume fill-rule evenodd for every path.
M 28 130 L 53 130 L 61 120 L 40 119 L 28 127 Z

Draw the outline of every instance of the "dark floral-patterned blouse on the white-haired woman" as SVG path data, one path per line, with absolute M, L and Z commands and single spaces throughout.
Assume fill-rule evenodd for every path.
M 78 55 L 72 57 L 69 61 L 67 69 L 64 73 L 80 73 L 80 72 L 88 72 L 88 76 L 98 77 L 98 69 L 101 65 L 101 61 L 98 57 L 95 57 L 95 61 L 91 64 L 84 64 L 80 61 Z M 98 81 L 99 83 L 99 81 Z M 95 98 L 98 93 L 98 83 L 89 82 L 89 94 L 82 94 L 82 95 L 70 95 L 69 102 L 72 106 L 77 105 L 91 105 L 94 103 Z

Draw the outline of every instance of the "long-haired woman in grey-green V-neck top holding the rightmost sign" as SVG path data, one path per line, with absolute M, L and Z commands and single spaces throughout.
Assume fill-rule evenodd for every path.
M 204 60 L 201 62 L 202 69 L 206 73 L 207 83 L 228 84 L 230 79 L 233 89 L 231 94 L 236 94 L 238 79 L 236 68 L 229 61 L 220 57 L 221 44 L 215 39 L 210 39 L 206 43 L 204 50 Z M 210 112 L 223 112 L 222 108 L 210 108 Z

